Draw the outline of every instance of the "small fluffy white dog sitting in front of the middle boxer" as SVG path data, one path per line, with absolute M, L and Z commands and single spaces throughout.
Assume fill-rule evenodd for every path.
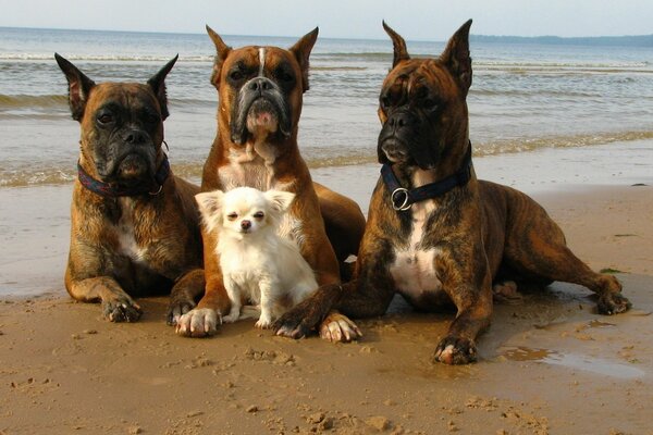
M 279 234 L 294 198 L 292 192 L 250 187 L 195 196 L 207 231 L 218 232 L 215 251 L 231 300 L 223 322 L 238 320 L 241 308 L 250 301 L 260 304 L 256 326 L 270 327 L 318 288 L 298 246 Z

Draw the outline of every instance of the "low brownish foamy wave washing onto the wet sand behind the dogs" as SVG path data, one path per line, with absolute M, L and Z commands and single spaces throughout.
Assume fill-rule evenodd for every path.
M 529 152 L 546 148 L 579 148 L 636 140 L 652 140 L 653 132 L 623 132 L 603 133 L 575 136 L 552 136 L 538 138 L 516 138 L 505 140 L 473 141 L 473 156 L 507 154 Z M 377 162 L 375 149 L 349 149 L 347 154 L 334 154 L 332 148 L 306 148 L 304 158 L 310 169 L 348 166 L 357 164 L 373 164 Z M 201 178 L 204 161 L 183 161 L 176 159 L 172 162 L 174 174 L 185 179 L 198 182 Z M 62 185 L 73 182 L 76 177 L 74 162 L 70 166 L 42 166 L 35 170 L 33 165 L 24 164 L 21 167 L 0 167 L 0 187 L 32 187 L 40 185 Z

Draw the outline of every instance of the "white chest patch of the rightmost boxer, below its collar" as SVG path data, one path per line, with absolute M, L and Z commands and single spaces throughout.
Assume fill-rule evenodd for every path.
M 424 247 L 427 219 L 432 209 L 428 202 L 412 206 L 410 239 L 395 248 L 395 260 L 390 265 L 396 289 L 411 300 L 419 300 L 442 288 L 435 268 L 442 251 Z

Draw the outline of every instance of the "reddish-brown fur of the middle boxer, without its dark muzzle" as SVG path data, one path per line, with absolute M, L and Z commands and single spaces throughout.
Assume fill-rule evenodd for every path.
M 365 217 L 350 199 L 324 186 L 313 185 L 297 147 L 303 94 L 308 89 L 308 57 L 317 38 L 317 29 L 288 50 L 264 47 L 264 77 L 278 80 L 275 74 L 284 67 L 289 69 L 295 77 L 294 86 L 285 94 L 291 130 L 287 136 L 270 134 L 266 139 L 249 133 L 244 144 L 234 142 L 232 136 L 234 108 L 241 87 L 233 85 L 230 74 L 239 65 L 248 77 L 257 76 L 260 69 L 259 47 L 231 49 L 218 34 L 208 27 L 207 29 L 217 48 L 211 83 L 218 89 L 220 105 L 218 134 L 204 166 L 201 190 L 229 190 L 248 186 L 260 190 L 275 188 L 294 192 L 296 198 L 288 214 L 300 223 L 300 228 L 293 236 L 298 241 L 303 257 L 316 272 L 320 285 L 340 283 L 340 263 L 349 254 L 358 252 Z M 206 293 L 198 303 L 198 310 L 211 309 L 224 314 L 229 311 L 230 301 L 215 253 L 215 234 L 202 228 L 202 238 Z M 193 320 L 188 324 L 194 327 Z M 212 326 L 204 326 L 202 328 L 200 325 L 200 331 L 177 331 L 180 334 L 194 336 L 214 332 Z

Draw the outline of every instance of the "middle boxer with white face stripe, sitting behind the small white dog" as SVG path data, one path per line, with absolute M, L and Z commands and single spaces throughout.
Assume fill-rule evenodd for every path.
M 220 104 L 202 191 L 248 186 L 295 194 L 281 233 L 298 244 L 318 284 L 340 284 L 341 263 L 358 252 L 365 217 L 354 201 L 311 182 L 297 147 L 308 58 L 318 29 L 288 50 L 232 49 L 210 27 L 207 30 L 217 48 L 211 83 Z M 220 314 L 229 312 L 215 237 L 202 228 L 206 293 L 197 309 L 177 320 L 180 335 L 211 335 Z M 356 325 L 341 314 L 332 313 L 322 322 L 324 338 L 349 340 L 358 334 Z

